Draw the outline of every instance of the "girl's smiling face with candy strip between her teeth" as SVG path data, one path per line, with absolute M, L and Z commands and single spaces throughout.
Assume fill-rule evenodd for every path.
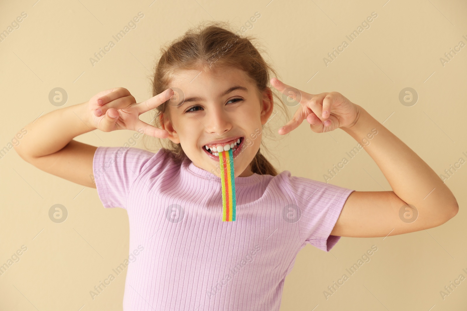
M 234 68 L 209 74 L 195 69 L 178 71 L 170 88 L 183 93 L 168 102 L 171 122 L 162 124 L 168 138 L 181 145 L 195 166 L 218 177 L 218 151 L 230 148 L 234 176 L 252 175 L 250 163 L 260 148 L 262 124 L 273 109 L 270 89 L 261 100 L 248 75 Z M 180 102 L 183 104 L 177 107 Z

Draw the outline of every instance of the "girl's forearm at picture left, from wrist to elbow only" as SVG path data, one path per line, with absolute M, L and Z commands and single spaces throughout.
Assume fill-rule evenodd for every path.
M 51 111 L 24 128 L 27 134 L 14 147 L 23 158 L 37 158 L 61 150 L 73 138 L 96 128 L 87 121 L 88 102 Z

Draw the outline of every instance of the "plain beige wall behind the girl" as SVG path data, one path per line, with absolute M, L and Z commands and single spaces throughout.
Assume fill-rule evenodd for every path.
M 459 41 L 467 43 L 465 1 L 35 1 L 1 4 L 0 31 L 21 12 L 28 16 L 0 42 L 0 148 L 42 113 L 59 109 L 48 99 L 53 88 L 68 93 L 63 107 L 119 86 L 145 100 L 161 45 L 198 21 L 231 21 L 240 28 L 259 12 L 247 34 L 259 38 L 285 83 L 310 93 L 342 93 L 384 122 L 438 174 L 461 157 L 467 160 L 462 154 L 467 153 L 467 47 L 445 66 L 439 60 Z M 89 58 L 140 11 L 144 18 L 137 28 L 92 67 Z M 345 36 L 372 12 L 378 17 L 370 28 L 349 43 Z M 343 40 L 349 46 L 326 67 L 323 58 Z M 414 106 L 399 102 L 405 87 L 418 93 Z M 149 121 L 149 114 L 142 119 Z M 283 122 L 277 115 L 270 122 L 273 132 Z M 117 146 L 132 134 L 96 130 L 76 140 Z M 306 121 L 267 143 L 268 158 L 280 171 L 321 181 L 357 145 L 340 129 L 316 134 Z M 13 149 L 0 159 L 0 174 L 0 264 L 21 245 L 28 248 L 0 276 L 0 310 L 121 310 L 125 276 L 117 276 L 94 300 L 89 291 L 127 258 L 126 211 L 105 209 L 95 189 L 44 173 Z M 444 300 L 439 293 L 460 274 L 467 277 L 462 271 L 467 270 L 466 177 L 464 164 L 446 181 L 460 210 L 442 226 L 385 239 L 343 237 L 330 253 L 307 245 L 286 277 L 281 310 L 466 310 L 466 280 Z M 366 152 L 330 183 L 390 190 Z M 69 213 L 60 224 L 48 216 L 57 203 Z M 326 300 L 327 286 L 372 245 L 378 250 L 371 261 Z

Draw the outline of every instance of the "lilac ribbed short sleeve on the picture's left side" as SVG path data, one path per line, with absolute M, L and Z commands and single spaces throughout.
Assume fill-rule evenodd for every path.
M 98 147 L 92 171 L 102 205 L 126 209 L 128 192 L 155 155 L 134 147 Z

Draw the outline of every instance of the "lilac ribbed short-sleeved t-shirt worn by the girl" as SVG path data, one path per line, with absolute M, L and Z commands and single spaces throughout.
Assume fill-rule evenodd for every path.
M 104 207 L 129 219 L 123 310 L 279 310 L 285 276 L 306 244 L 329 251 L 351 189 L 283 171 L 235 178 L 236 220 L 222 221 L 221 180 L 160 149 L 98 147 Z M 110 282 L 110 281 L 107 281 Z

